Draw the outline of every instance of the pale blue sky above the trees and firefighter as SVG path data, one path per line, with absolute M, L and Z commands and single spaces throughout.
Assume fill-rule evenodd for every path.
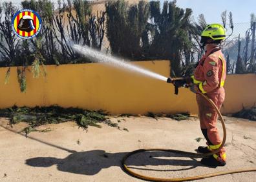
M 21 0 L 10 0 L 20 4 Z M 57 0 L 52 0 L 57 2 Z M 165 0 L 160 0 L 163 3 Z M 180 8 L 191 8 L 193 16 L 197 19 L 204 14 L 207 23 L 221 23 L 220 14 L 227 10 L 233 13 L 233 23 L 250 22 L 250 14 L 256 14 L 256 0 L 176 0 Z M 3 2 L 3 0 L 1 0 Z

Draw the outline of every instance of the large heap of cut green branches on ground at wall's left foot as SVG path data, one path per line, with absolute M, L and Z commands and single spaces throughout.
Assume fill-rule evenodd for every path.
M 80 108 L 61 108 L 59 106 L 48 106 L 28 108 L 26 106 L 0 109 L 0 117 L 9 117 L 10 125 L 15 125 L 21 121 L 28 123 L 28 127 L 23 130 L 26 134 L 32 131 L 47 132 L 48 130 L 36 130 L 37 126 L 76 121 L 78 126 L 87 130 L 88 126 L 100 128 L 99 123 L 105 123 L 112 127 L 118 127 L 112 123 L 101 111 L 83 110 Z

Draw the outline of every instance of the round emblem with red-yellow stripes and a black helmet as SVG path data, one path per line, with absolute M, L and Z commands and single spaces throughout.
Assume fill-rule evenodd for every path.
M 19 10 L 12 18 L 12 31 L 23 39 L 36 37 L 41 29 L 41 17 L 33 10 Z

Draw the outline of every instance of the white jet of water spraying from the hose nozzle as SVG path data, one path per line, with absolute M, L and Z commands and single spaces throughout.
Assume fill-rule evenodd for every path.
M 118 59 L 117 57 L 107 56 L 106 54 L 93 50 L 88 46 L 72 45 L 72 48 L 76 52 L 82 54 L 85 57 L 91 57 L 93 61 L 96 61 L 98 63 L 107 63 L 108 65 L 111 65 L 111 66 L 125 68 L 127 70 L 138 72 L 140 74 L 144 74 L 145 76 L 153 77 L 155 79 L 160 79 L 162 81 L 167 80 L 167 77 L 165 76 L 161 76 L 160 74 L 156 74 L 155 72 L 151 72 L 139 66 L 134 66 L 131 63 Z

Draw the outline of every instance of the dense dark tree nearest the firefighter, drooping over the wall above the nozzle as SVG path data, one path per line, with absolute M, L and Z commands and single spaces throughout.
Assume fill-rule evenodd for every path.
M 171 68 L 175 76 L 181 76 L 182 55 L 190 52 L 191 9 L 183 10 L 176 6 L 176 1 L 165 1 L 160 10 L 159 1 L 151 1 L 151 26 L 153 41 L 149 48 L 150 57 L 171 60 Z M 187 61 L 189 64 L 189 61 Z

